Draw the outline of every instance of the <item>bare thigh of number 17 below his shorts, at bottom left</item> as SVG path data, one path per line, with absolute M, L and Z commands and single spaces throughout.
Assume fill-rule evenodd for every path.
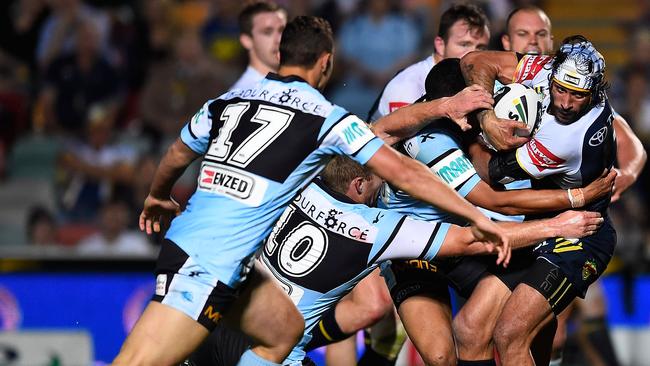
M 195 319 L 152 301 L 136 322 L 113 365 L 173 365 L 208 336 Z

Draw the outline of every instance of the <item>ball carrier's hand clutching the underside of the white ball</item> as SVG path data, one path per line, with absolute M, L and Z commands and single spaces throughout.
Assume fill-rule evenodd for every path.
M 517 148 L 530 139 L 517 136 L 517 130 L 521 129 L 521 122 L 497 118 L 494 111 L 481 112 L 479 121 L 485 139 L 498 151 Z

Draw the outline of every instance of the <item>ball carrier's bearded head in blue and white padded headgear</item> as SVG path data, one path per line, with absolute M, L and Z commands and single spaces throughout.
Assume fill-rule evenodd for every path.
M 583 36 L 566 38 L 555 54 L 550 80 L 551 114 L 562 123 L 578 120 L 605 99 L 605 59 Z

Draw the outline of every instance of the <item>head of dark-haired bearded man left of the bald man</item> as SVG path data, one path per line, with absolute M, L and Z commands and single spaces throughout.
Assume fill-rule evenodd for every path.
M 472 4 L 458 4 L 440 17 L 434 40 L 436 56 L 461 58 L 465 54 L 487 49 L 490 41 L 489 21 L 483 10 Z

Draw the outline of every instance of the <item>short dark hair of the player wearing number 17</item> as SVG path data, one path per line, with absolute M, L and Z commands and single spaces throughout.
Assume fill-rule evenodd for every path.
M 315 16 L 297 16 L 287 23 L 280 41 L 280 66 L 313 66 L 334 48 L 332 27 Z

